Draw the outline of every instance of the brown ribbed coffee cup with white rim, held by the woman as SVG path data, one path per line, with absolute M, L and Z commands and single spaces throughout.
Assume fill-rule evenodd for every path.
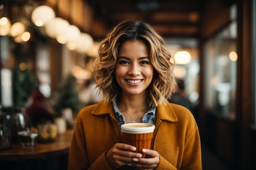
M 136 151 L 142 154 L 143 158 L 148 158 L 142 149 L 150 149 L 155 125 L 146 123 L 131 123 L 121 126 L 124 144 L 136 147 Z

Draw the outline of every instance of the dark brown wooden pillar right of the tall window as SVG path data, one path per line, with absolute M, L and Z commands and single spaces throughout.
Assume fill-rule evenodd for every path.
M 252 1 L 238 0 L 237 119 L 240 129 L 240 169 L 251 169 L 252 124 Z

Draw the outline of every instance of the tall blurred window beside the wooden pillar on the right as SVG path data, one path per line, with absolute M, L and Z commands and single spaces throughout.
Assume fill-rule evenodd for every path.
M 231 7 L 231 20 L 236 6 Z M 220 116 L 236 118 L 236 19 L 210 38 L 204 46 L 205 108 Z

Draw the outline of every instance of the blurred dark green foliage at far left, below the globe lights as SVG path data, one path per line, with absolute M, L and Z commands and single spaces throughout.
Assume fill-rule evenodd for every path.
M 22 108 L 28 102 L 32 91 L 38 89 L 39 82 L 28 69 L 21 71 L 17 64 L 13 69 L 13 101 L 15 108 Z

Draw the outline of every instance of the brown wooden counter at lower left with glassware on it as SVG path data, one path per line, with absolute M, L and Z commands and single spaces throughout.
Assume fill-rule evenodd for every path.
M 47 144 L 35 144 L 34 148 L 22 148 L 19 144 L 12 144 L 11 149 L 0 151 L 0 161 L 20 161 L 53 157 L 69 152 L 73 130 L 59 134 L 56 140 Z

